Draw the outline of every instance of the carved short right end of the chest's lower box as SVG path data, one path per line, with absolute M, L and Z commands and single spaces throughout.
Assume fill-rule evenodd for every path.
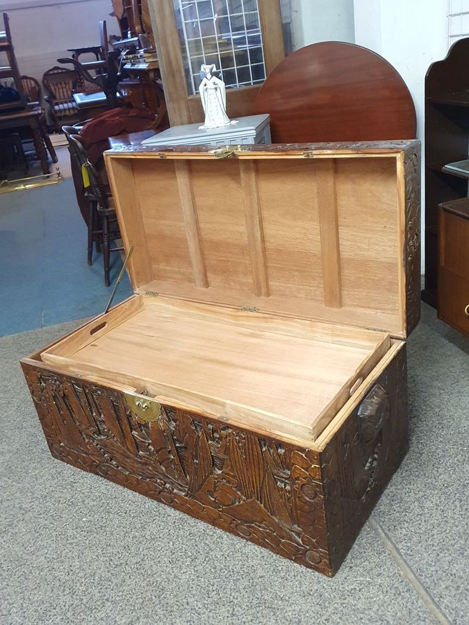
M 399 467 L 408 437 L 404 346 L 320 456 L 333 572 Z

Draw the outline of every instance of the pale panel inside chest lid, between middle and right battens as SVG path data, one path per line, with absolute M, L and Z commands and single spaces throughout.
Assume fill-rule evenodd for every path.
M 322 266 L 315 164 L 256 160 L 272 296 L 322 301 Z

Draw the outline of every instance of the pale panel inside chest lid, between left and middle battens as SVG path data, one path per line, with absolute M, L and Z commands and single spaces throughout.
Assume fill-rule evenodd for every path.
M 192 160 L 190 172 L 209 287 L 254 293 L 239 163 Z

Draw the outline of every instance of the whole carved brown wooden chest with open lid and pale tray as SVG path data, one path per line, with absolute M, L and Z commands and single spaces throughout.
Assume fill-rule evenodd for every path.
M 407 447 L 418 154 L 106 153 L 135 295 L 22 361 L 52 455 L 333 575 Z

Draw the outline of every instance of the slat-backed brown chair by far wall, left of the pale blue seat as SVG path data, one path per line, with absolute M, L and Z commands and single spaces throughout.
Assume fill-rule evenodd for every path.
M 42 86 L 46 92 L 44 100 L 49 104 L 51 122 L 55 131 L 60 131 L 64 119 L 78 119 L 73 99 L 79 74 L 74 69 L 52 67 L 44 72 Z

